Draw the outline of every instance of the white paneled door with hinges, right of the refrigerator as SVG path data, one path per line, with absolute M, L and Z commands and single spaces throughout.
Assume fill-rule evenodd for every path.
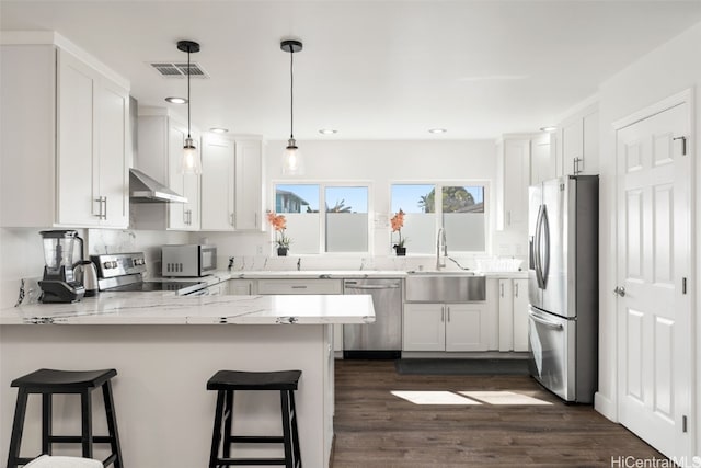
M 693 427 L 685 96 L 617 132 L 619 421 L 668 457 L 689 457 Z

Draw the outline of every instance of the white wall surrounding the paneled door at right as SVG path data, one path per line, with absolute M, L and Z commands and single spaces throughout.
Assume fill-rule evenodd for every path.
M 669 95 L 689 88 L 696 89 L 696 135 L 691 138 L 691 158 L 698 158 L 699 151 L 694 137 L 701 135 L 701 106 L 699 105 L 699 87 L 701 85 L 701 23 L 683 32 L 675 39 L 651 52 L 636 60 L 618 75 L 601 83 L 599 89 L 600 116 L 600 333 L 599 333 L 599 392 L 596 408 L 608 418 L 616 420 L 616 298 L 611 294 L 617 285 L 617 231 L 616 231 L 616 134 L 612 123 L 641 109 L 656 103 Z M 696 164 L 696 182 L 693 191 L 698 190 L 701 181 L 701 164 Z M 696 192 L 696 242 L 701 242 L 701 204 Z M 693 225 L 692 225 L 693 226 Z M 701 290 L 701 259 L 698 252 L 693 255 L 696 272 L 696 292 Z M 699 295 L 696 294 L 696 310 L 701 310 Z M 696 336 L 701 333 L 701 321 L 692 310 L 692 323 L 696 323 Z M 696 343 L 696 363 L 701 365 L 701 346 Z M 697 367 L 697 375 L 701 375 Z M 696 389 L 697 401 L 701 401 Z M 697 412 L 696 421 L 701 413 Z M 693 418 L 692 418 L 693 420 Z M 697 436 L 701 435 L 696 424 Z M 698 438 L 698 437 L 697 437 Z M 699 438 L 697 447 L 700 447 Z

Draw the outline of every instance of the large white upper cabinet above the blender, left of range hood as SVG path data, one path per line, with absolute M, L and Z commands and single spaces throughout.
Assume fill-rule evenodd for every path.
M 128 84 L 54 44 L 0 60 L 2 226 L 126 228 Z

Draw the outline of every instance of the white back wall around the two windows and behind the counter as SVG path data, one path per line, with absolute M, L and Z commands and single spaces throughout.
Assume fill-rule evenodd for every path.
M 384 215 L 390 212 L 390 185 L 395 182 L 426 181 L 486 181 L 492 189 L 489 202 L 494 206 L 494 182 L 496 175 L 496 146 L 493 140 L 471 141 L 298 141 L 304 158 L 303 176 L 283 176 L 280 161 L 287 141 L 268 141 L 265 150 L 266 207 L 275 209 L 275 183 L 297 182 L 343 182 L 365 181 L 371 185 L 370 213 Z M 376 258 L 391 256 L 389 251 L 389 226 L 377 227 L 375 242 L 371 246 Z M 264 262 L 263 255 L 272 252 L 272 235 L 207 232 L 193 233 L 196 241 L 206 237 L 219 247 L 219 261 L 228 256 L 239 261 L 246 258 L 248 266 Z M 407 244 L 411 251 L 411 246 Z M 262 252 L 262 253 L 258 253 Z M 257 255 L 257 258 L 256 258 Z M 290 250 L 295 255 L 295 249 Z M 324 258 L 304 258 L 307 265 L 319 267 L 357 269 L 363 255 L 323 255 Z M 367 256 L 367 255 L 366 255 Z M 284 262 L 269 259 L 273 262 Z M 294 259 L 294 262 L 297 258 Z M 410 260 L 411 261 L 411 260 Z M 256 263 L 257 262 L 257 263 Z M 292 260 L 288 260 L 290 264 Z M 338 263 L 341 262 L 341 263 Z M 225 263 L 226 264 L 226 263 Z M 269 265 L 268 265 L 269 267 Z

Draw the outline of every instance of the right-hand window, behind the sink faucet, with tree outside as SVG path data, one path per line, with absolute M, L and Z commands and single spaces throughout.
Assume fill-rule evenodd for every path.
M 392 213 L 405 213 L 402 237 L 409 251 L 435 253 L 440 227 L 446 230 L 449 251 L 485 251 L 484 194 L 482 184 L 393 184 Z

